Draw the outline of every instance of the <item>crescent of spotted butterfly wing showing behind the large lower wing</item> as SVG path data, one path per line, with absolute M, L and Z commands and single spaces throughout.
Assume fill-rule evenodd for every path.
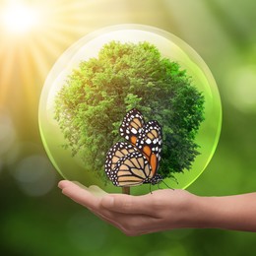
M 106 154 L 105 160 L 105 173 L 109 179 L 111 179 L 111 173 L 118 160 L 135 151 L 137 150 L 131 144 L 126 142 L 117 142 L 113 147 L 110 148 Z

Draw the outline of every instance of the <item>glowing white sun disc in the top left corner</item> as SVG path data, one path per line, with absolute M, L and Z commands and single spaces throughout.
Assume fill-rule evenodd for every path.
M 39 24 L 39 12 L 32 7 L 14 4 L 3 11 L 3 25 L 7 32 L 25 33 Z

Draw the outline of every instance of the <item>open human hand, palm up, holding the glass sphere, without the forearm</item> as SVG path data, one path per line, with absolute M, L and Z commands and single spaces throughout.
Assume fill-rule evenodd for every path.
M 107 194 L 68 180 L 59 182 L 62 193 L 88 208 L 97 217 L 127 235 L 139 235 L 178 227 L 191 227 L 189 220 L 195 195 L 185 190 L 161 189 L 152 194 Z

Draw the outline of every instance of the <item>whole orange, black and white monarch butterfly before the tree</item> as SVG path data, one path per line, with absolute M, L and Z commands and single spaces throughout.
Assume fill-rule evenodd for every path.
M 162 149 L 161 127 L 158 121 L 145 123 L 142 113 L 133 108 L 126 113 L 119 127 L 127 142 L 117 142 L 105 160 L 105 173 L 115 186 L 158 184 Z

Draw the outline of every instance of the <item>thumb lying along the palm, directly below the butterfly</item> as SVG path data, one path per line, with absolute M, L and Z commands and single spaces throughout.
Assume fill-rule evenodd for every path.
M 130 196 L 122 194 L 106 195 L 101 199 L 101 205 L 109 211 L 125 214 L 141 214 L 155 216 L 152 208 L 154 197 L 149 195 Z

